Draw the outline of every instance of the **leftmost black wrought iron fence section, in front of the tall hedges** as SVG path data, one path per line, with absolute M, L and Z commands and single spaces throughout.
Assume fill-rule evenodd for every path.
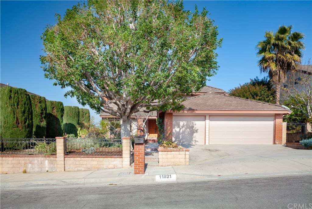
M 56 139 L 0 139 L 1 155 L 56 155 Z

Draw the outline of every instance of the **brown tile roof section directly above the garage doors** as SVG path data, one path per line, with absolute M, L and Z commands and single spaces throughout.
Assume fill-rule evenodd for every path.
M 217 93 L 195 96 L 184 101 L 182 104 L 185 106 L 183 110 L 287 110 L 280 105 Z

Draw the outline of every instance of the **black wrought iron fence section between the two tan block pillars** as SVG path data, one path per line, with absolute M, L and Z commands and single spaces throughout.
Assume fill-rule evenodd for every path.
M 121 139 L 66 139 L 66 155 L 121 156 Z

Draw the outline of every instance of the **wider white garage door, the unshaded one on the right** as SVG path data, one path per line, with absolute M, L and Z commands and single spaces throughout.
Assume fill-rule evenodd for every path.
M 273 144 L 273 134 L 274 117 L 209 117 L 209 144 Z

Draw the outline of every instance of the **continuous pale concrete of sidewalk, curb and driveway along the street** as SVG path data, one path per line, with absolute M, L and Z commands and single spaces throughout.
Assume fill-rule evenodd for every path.
M 312 174 L 312 151 L 309 150 L 285 149 L 282 146 L 263 146 L 256 151 L 250 150 L 248 146 L 209 148 L 211 153 L 207 153 L 206 146 L 190 147 L 191 165 L 148 167 L 144 175 L 134 175 L 133 168 L 1 174 L 1 189 L 174 183 Z M 200 154 L 201 149 L 206 150 L 205 154 Z M 196 160 L 199 156 L 200 159 Z M 159 175 L 164 174 L 173 175 L 171 179 L 159 179 Z

